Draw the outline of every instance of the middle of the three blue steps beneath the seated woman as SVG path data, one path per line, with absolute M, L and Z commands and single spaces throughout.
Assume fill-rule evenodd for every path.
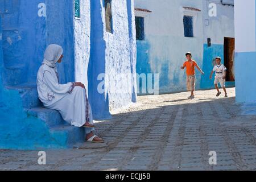
M 25 109 L 27 115 L 32 115 L 36 118 L 42 119 L 46 125 L 51 128 L 58 125 L 68 125 L 63 120 L 61 114 L 57 110 L 47 109 L 45 107 L 33 107 L 32 109 Z

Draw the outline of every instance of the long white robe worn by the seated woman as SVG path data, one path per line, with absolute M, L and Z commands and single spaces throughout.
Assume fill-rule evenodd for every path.
M 86 90 L 74 82 L 59 84 L 56 68 L 43 64 L 37 77 L 38 95 L 43 105 L 60 112 L 72 126 L 81 127 L 86 122 Z M 88 119 L 93 125 L 92 109 L 88 101 Z M 94 129 L 86 129 L 86 134 Z

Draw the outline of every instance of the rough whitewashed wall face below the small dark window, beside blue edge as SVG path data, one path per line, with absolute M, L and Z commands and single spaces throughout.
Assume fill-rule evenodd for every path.
M 131 5 L 134 9 L 134 6 Z M 104 10 L 104 8 L 102 7 Z M 103 12 L 104 30 L 105 10 Z M 131 65 L 136 61 L 134 51 L 136 44 L 129 37 L 129 22 L 126 0 L 112 0 L 113 34 L 104 31 L 106 42 L 105 62 L 105 93 L 109 94 L 109 107 L 111 111 L 121 109 L 132 101 L 132 90 L 135 84 L 131 76 Z M 132 25 L 135 26 L 135 23 Z M 133 28 L 134 31 L 134 28 Z M 135 32 L 134 32 L 135 33 Z

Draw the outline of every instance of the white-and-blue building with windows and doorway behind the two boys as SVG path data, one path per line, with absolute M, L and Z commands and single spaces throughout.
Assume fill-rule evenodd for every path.
M 205 72 L 196 73 L 197 89 L 214 88 L 216 56 L 228 67 L 226 85 L 234 86 L 233 1 L 135 0 L 135 8 L 137 72 L 159 73 L 159 93 L 186 90 L 180 67 L 188 51 Z

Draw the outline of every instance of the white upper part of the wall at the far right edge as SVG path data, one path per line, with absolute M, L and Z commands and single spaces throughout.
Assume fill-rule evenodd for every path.
M 255 0 L 234 0 L 234 18 L 236 52 L 255 52 Z

